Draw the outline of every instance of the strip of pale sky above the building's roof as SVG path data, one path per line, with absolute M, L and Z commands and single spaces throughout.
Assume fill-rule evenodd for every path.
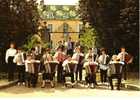
M 78 1 L 79 0 L 44 0 L 44 3 L 47 5 L 76 5 Z

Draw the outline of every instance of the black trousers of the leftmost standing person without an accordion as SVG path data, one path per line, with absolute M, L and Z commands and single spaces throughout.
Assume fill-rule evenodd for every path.
M 14 80 L 14 73 L 16 71 L 16 64 L 13 63 L 14 57 L 8 58 L 8 81 Z

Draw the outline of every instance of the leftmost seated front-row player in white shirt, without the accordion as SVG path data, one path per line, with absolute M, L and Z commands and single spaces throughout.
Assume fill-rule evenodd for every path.
M 32 87 L 36 87 L 37 84 L 37 76 L 35 74 L 35 66 L 34 63 L 40 63 L 39 60 L 35 60 L 32 55 L 28 54 L 27 59 L 25 60 L 25 72 L 26 72 L 26 83 L 28 87 L 32 85 Z

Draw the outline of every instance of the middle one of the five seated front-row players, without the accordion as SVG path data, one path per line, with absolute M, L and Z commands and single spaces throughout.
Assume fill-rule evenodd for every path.
M 77 64 L 78 62 L 77 61 L 73 61 L 71 56 L 68 55 L 67 59 L 62 64 L 63 69 L 64 69 L 64 72 L 63 72 L 63 83 L 66 82 L 66 80 L 65 80 L 66 76 L 70 76 L 71 77 L 71 83 L 74 83 L 74 71 L 73 72 L 71 71 L 69 63 Z M 72 66 L 72 67 L 75 67 L 75 66 Z

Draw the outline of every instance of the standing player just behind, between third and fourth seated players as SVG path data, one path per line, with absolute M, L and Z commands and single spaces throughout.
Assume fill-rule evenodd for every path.
M 72 56 L 72 59 L 78 62 L 77 70 L 76 70 L 76 81 L 79 74 L 79 80 L 82 81 L 82 69 L 83 69 L 83 61 L 84 61 L 84 54 L 81 53 L 80 48 L 75 48 L 75 53 Z

